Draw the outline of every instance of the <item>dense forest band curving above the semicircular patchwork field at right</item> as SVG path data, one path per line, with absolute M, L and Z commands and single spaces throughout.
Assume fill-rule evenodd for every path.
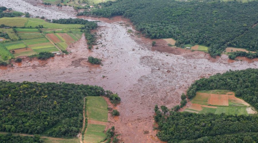
M 187 90 L 192 99 L 197 90 L 232 90 L 237 97 L 258 109 L 258 69 L 228 71 L 195 81 Z

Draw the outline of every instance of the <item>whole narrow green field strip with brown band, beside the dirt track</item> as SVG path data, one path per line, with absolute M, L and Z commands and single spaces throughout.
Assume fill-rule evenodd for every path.
M 83 136 L 83 142 L 100 142 L 105 138 L 107 126 L 107 102 L 101 96 L 86 97 L 87 128 Z

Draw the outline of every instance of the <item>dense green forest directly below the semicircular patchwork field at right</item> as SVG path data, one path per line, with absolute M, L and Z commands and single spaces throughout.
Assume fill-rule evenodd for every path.
M 159 116 L 159 114 L 156 116 Z M 162 118 L 156 121 L 160 130 L 157 136 L 162 141 L 169 143 L 179 142 L 181 140 L 193 140 L 192 142 L 194 142 L 194 140 L 206 136 L 208 136 L 206 137 L 208 138 L 207 140 L 211 140 L 212 142 L 212 138 L 220 140 L 216 135 L 223 136 L 224 134 L 228 134 L 226 136 L 227 138 L 224 138 L 224 142 L 230 142 L 230 140 L 236 141 L 245 137 L 236 136 L 235 134 L 243 134 L 245 132 L 256 132 L 257 134 L 258 132 L 258 116 L 171 112 L 167 118 L 162 115 Z M 253 140 L 250 136 L 248 139 Z M 256 136 L 255 141 L 257 139 Z

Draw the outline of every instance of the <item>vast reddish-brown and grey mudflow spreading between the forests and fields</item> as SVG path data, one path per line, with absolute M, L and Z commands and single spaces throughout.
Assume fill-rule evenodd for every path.
M 13 4 L 3 1 L 2 5 Z M 32 13 L 34 9 L 36 6 L 30 5 L 26 10 Z M 53 10 L 60 13 L 58 9 L 48 10 L 44 9 L 44 13 L 49 13 L 50 17 L 55 16 Z M 64 14 L 62 18 L 67 17 Z M 155 135 L 157 131 L 153 131 L 155 104 L 169 108 L 178 105 L 181 93 L 200 78 L 229 69 L 257 68 L 256 61 L 228 62 L 227 55 L 213 59 L 204 52 L 169 47 L 162 39 L 157 40 L 157 46 L 151 47 L 152 40 L 140 37 L 136 31 L 128 33 L 127 30 L 133 27 L 128 26 L 130 23 L 121 17 L 91 19 L 102 21 L 98 23 L 100 26 L 96 32 L 102 35 L 98 42 L 103 46 L 96 45 L 88 50 L 83 36 L 68 47 L 71 54 L 56 56 L 48 61 L 25 58 L 22 65 L 14 64 L 14 67 L 0 69 L 0 80 L 90 84 L 117 92 L 122 99 L 116 107 L 120 116 L 109 117 L 111 122 L 108 126 L 115 126 L 121 134 L 119 138 L 124 142 L 145 143 L 160 142 Z M 127 26 L 121 23 L 127 23 Z M 88 56 L 101 58 L 103 66 L 89 64 Z M 144 131 L 149 133 L 144 134 Z

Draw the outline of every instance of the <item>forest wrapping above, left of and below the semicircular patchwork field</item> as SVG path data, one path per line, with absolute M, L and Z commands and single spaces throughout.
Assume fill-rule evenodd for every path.
M 197 90 L 232 90 L 257 108 L 258 69 L 228 71 L 194 82 L 187 90 L 192 99 Z M 183 97 L 185 98 L 185 97 Z M 182 99 L 183 99 L 182 98 Z M 183 100 L 182 100 L 183 101 Z M 182 104 L 182 103 L 181 103 Z M 179 106 L 175 106 L 179 107 Z M 257 115 L 196 114 L 176 112 L 165 106 L 155 106 L 155 121 L 160 130 L 157 136 L 167 142 L 256 142 L 258 140 Z

